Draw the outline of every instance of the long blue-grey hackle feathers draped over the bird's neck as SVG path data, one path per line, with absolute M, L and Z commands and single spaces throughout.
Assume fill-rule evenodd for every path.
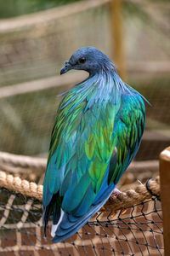
M 130 88 L 122 82 L 122 79 L 113 71 L 111 73 L 95 73 L 93 76 L 89 76 L 79 84 L 76 84 L 71 90 L 65 91 L 60 96 L 65 95 L 64 100 L 60 103 L 59 109 L 63 109 L 68 105 L 73 107 L 70 109 L 70 113 L 81 102 L 87 102 L 85 112 L 93 106 L 104 107 L 109 102 L 117 104 L 120 102 L 122 93 L 130 91 Z

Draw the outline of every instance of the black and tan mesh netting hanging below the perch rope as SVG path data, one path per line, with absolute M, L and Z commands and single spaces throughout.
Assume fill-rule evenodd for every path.
M 50 222 L 51 224 L 51 222 Z M 0 189 L 0 255 L 162 255 L 161 204 L 156 198 L 100 212 L 76 235 L 54 244 L 43 236 L 42 204 Z

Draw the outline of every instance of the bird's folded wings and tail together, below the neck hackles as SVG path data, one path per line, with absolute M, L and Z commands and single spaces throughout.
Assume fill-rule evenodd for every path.
M 105 203 L 144 131 L 139 95 L 125 95 L 100 108 L 94 104 L 86 112 L 86 101 L 64 108 L 68 101 L 57 113 L 43 187 L 43 219 L 46 226 L 52 206 L 54 241 L 74 234 Z

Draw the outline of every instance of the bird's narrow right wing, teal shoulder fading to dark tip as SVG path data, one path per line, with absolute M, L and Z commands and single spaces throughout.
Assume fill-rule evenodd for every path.
M 145 106 L 139 94 L 122 96 L 115 123 L 116 150 L 111 156 L 108 182 L 116 184 L 137 153 L 144 132 Z

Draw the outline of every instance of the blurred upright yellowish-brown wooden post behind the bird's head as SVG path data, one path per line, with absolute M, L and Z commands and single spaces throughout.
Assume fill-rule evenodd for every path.
M 127 79 L 124 37 L 122 31 L 122 0 L 111 1 L 112 59 L 122 79 Z

